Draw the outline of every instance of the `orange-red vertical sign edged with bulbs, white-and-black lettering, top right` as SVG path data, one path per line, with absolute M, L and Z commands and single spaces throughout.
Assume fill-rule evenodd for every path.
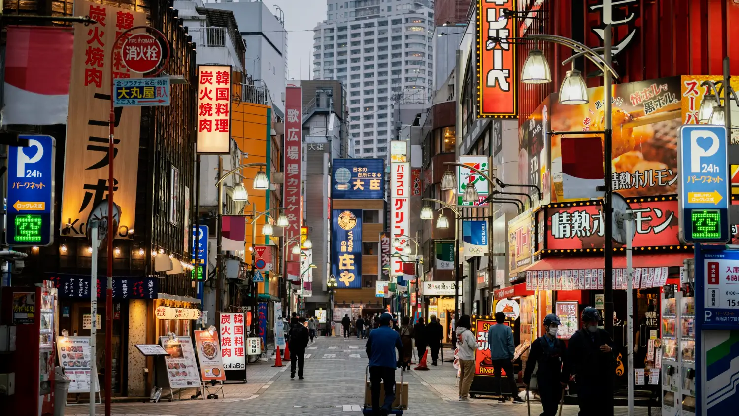
M 477 0 L 477 117 L 518 117 L 515 0 Z

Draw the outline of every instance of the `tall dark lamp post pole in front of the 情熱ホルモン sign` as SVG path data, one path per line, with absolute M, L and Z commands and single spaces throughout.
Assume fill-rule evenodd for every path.
M 612 44 L 612 27 L 607 24 L 603 33 L 603 58 L 610 65 L 613 56 L 611 55 Z M 611 199 L 611 176 L 613 165 L 613 103 L 611 98 L 611 78 L 610 71 L 603 71 L 603 99 L 605 100 L 605 133 L 603 134 L 603 146 L 605 154 L 604 169 L 604 185 L 603 192 L 603 228 L 605 231 L 605 241 L 603 245 L 604 251 L 604 267 L 603 267 L 603 325 L 605 330 L 613 336 L 613 200 Z M 633 371 L 629 369 L 629 371 Z

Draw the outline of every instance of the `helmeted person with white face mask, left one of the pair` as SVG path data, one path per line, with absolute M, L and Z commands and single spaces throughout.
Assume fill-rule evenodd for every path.
M 544 411 L 540 416 L 555 416 L 562 389 L 567 386 L 566 379 L 562 381 L 562 361 L 564 361 L 567 347 L 565 341 L 556 337 L 559 328 L 559 317 L 550 313 L 544 318 L 544 335 L 531 343 L 526 361 L 526 370 L 523 373 L 523 384 L 528 388 L 534 366 L 537 369 L 539 396 L 542 398 Z

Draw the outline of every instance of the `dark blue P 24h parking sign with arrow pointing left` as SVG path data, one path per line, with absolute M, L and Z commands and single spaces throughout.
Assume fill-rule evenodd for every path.
M 28 147 L 8 147 L 5 242 L 16 247 L 52 245 L 56 141 L 33 134 L 18 138 L 27 139 Z

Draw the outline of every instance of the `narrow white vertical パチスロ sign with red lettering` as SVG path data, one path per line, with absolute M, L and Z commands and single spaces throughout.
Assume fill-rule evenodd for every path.
M 392 254 L 403 256 L 403 248 L 410 231 L 410 163 L 390 163 L 390 236 L 398 238 L 400 244 L 393 245 Z M 403 274 L 403 260 L 400 257 L 391 257 L 391 276 Z

